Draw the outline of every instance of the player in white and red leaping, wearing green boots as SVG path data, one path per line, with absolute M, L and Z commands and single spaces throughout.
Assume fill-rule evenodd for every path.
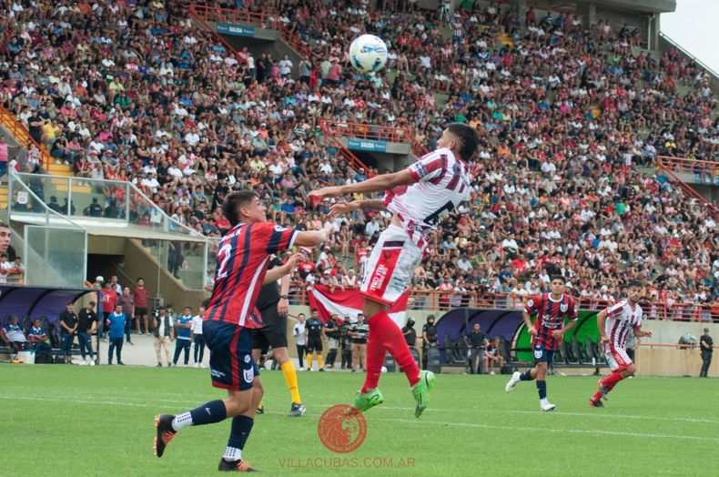
M 335 204 L 330 209 L 330 216 L 359 208 L 389 210 L 393 214 L 390 226 L 372 249 L 359 289 L 365 297 L 364 316 L 370 319 L 367 375 L 354 402 L 359 411 L 367 411 L 384 401 L 377 386 L 387 351 L 410 381 L 416 417 L 420 417 L 430 399 L 434 374 L 417 367 L 400 330 L 404 323 L 392 321 L 387 311 L 410 285 L 430 233 L 442 218 L 470 198 L 468 167 L 462 161 L 471 160 L 477 150 L 477 132 L 467 125 L 452 123 L 442 132 L 437 144 L 437 150 L 400 172 L 310 193 L 323 198 L 388 191 L 384 200 L 356 200 Z

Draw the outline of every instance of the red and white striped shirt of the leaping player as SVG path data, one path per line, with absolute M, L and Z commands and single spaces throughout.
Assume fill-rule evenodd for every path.
M 384 205 L 395 214 L 420 249 L 426 238 L 454 208 L 470 198 L 466 165 L 441 147 L 408 167 L 415 179 L 410 186 L 393 188 Z

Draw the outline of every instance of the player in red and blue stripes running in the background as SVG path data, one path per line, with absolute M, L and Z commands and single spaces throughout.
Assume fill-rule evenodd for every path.
M 537 391 L 540 395 L 540 409 L 553 411 L 554 404 L 547 401 L 547 370 L 552 366 L 554 351 L 559 349 L 562 336 L 574 328 L 577 322 L 575 300 L 564 293 L 564 279 L 552 277 L 550 293 L 542 293 L 527 300 L 522 318 L 527 330 L 532 335 L 532 351 L 534 368 L 523 373 L 515 371 L 504 390 L 512 391 L 520 381 L 537 380 Z M 532 315 L 536 320 L 532 324 Z M 564 321 L 569 320 L 565 325 Z

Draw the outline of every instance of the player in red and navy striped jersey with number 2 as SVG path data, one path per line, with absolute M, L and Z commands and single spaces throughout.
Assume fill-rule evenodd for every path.
M 293 255 L 284 266 L 268 272 L 269 257 L 293 245 L 317 246 L 327 238 L 324 230 L 299 232 L 266 222 L 265 210 L 251 191 L 231 194 L 222 205 L 232 228 L 219 243 L 215 286 L 203 320 L 203 334 L 210 351 L 212 385 L 227 390 L 228 397 L 181 414 L 158 415 L 155 418 L 157 457 L 162 457 L 177 431 L 232 418 L 228 446 L 218 470 L 252 470 L 242 460 L 242 449 L 264 390 L 258 367 L 252 360 L 248 327 L 257 326 L 251 315 L 262 284 L 289 273 L 299 261 L 299 254 Z

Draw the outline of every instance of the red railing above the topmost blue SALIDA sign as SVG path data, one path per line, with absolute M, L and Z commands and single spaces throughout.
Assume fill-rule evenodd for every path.
M 222 8 L 214 5 L 189 6 L 190 15 L 204 22 L 228 23 L 233 25 L 258 25 L 260 28 L 278 30 L 282 41 L 292 46 L 301 56 L 311 57 L 311 48 L 302 42 L 302 39 L 289 27 L 279 21 L 277 15 L 248 12 L 234 8 Z M 230 51 L 234 51 L 234 48 Z

